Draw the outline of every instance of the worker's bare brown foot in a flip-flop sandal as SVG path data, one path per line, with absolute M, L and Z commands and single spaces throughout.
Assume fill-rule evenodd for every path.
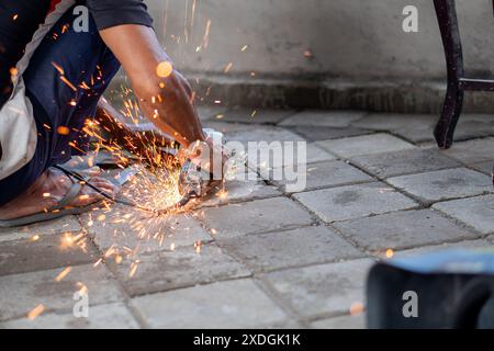
M 116 195 L 119 186 L 98 177 L 100 172 L 98 168 L 92 168 L 80 173 L 90 177 L 91 184 L 98 189 L 110 195 Z M 0 207 L 0 219 L 13 219 L 42 213 L 46 208 L 57 205 L 72 184 L 72 181 L 61 171 L 48 169 L 25 192 Z M 89 186 L 82 186 L 79 195 L 70 206 L 82 207 L 101 199 L 102 195 L 94 190 Z

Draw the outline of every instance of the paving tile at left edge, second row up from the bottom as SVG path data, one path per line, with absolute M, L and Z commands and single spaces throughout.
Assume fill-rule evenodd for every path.
M 103 265 L 72 267 L 65 279 L 55 278 L 64 269 L 13 274 L 0 278 L 0 320 L 23 318 L 40 304 L 45 313 L 65 310 L 70 313 L 76 301 L 74 294 L 85 285 L 91 305 L 124 299 L 116 281 Z M 83 285 L 82 285 L 83 284 Z

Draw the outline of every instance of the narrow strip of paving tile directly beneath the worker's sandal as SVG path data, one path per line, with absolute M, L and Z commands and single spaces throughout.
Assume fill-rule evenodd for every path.
M 65 216 L 24 227 L 0 228 L 0 242 L 27 239 L 34 235 L 43 236 L 65 231 L 79 231 L 81 227 L 76 216 Z

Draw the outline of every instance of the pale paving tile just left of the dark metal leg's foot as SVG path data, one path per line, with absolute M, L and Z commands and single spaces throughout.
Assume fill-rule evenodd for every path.
M 409 143 L 383 133 L 317 141 L 316 145 L 343 158 L 415 148 L 415 146 Z

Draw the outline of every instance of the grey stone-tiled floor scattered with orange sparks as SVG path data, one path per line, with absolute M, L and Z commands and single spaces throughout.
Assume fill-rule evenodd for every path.
M 133 222 L 116 205 L 0 229 L 0 327 L 362 328 L 353 307 L 386 250 L 494 241 L 491 116 L 468 116 L 441 151 L 428 115 L 201 112 L 243 145 L 306 140 L 307 186 L 254 162 L 257 178 L 188 214 Z M 87 318 L 75 316 L 81 291 Z

